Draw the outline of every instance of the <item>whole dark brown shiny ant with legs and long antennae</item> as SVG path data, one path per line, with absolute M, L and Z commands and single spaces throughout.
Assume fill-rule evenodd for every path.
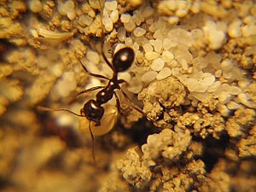
M 119 96 L 117 96 L 115 90 L 120 90 L 122 94 L 125 96 L 125 99 L 131 103 L 132 107 L 135 108 L 139 113 L 143 113 L 142 109 L 137 108 L 135 106 L 130 98 L 125 94 L 125 92 L 120 88 L 119 84 L 126 83 L 123 79 L 118 79 L 118 73 L 124 72 L 129 67 L 131 67 L 131 64 L 134 61 L 135 53 L 133 49 L 130 47 L 125 47 L 122 49 L 119 49 L 114 55 L 113 55 L 113 61 L 112 64 L 110 61 L 108 61 L 107 56 L 102 51 L 102 56 L 104 61 L 108 64 L 108 67 L 110 67 L 113 71 L 113 76 L 111 79 L 108 79 L 105 76 L 102 76 L 101 74 L 96 73 L 90 73 L 88 69 L 83 65 L 83 63 L 80 61 L 81 66 L 84 68 L 85 73 L 88 73 L 89 75 L 99 78 L 99 79 L 107 79 L 108 84 L 106 86 L 95 86 L 88 90 L 83 90 L 79 92 L 78 96 L 84 93 L 87 93 L 91 90 L 100 90 L 96 94 L 96 99 L 90 99 L 88 102 L 84 103 L 84 107 L 80 109 L 80 114 L 74 113 L 73 111 L 70 111 L 65 108 L 59 108 L 59 109 L 51 109 L 51 108 L 45 108 L 45 107 L 38 107 L 41 110 L 44 111 L 66 111 L 68 113 L 73 113 L 76 116 L 79 117 L 85 117 L 89 120 L 89 130 L 90 130 L 90 137 L 92 139 L 92 155 L 93 155 L 93 161 L 96 165 L 96 158 L 95 158 L 95 152 L 94 152 L 94 136 L 91 131 L 91 121 L 95 122 L 95 126 L 101 125 L 101 119 L 104 113 L 104 108 L 102 107 L 102 104 L 107 103 L 109 100 L 112 99 L 112 97 L 115 97 L 116 105 L 118 108 L 119 113 L 121 112 L 120 102 L 119 102 Z M 143 113 L 144 114 L 144 113 Z

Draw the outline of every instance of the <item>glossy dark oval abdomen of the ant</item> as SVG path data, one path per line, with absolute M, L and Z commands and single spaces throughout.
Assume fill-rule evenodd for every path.
M 124 72 L 126 69 L 131 67 L 134 57 L 134 51 L 130 47 L 119 49 L 119 51 L 113 55 L 112 62 L 114 70 L 116 72 Z

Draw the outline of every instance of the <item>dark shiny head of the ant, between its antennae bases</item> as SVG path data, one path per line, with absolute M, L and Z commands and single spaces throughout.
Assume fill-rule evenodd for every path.
M 104 108 L 99 106 L 96 101 L 91 99 L 84 104 L 84 108 L 81 109 L 81 113 L 84 113 L 87 119 L 94 121 L 96 126 L 99 126 L 101 125 Z

